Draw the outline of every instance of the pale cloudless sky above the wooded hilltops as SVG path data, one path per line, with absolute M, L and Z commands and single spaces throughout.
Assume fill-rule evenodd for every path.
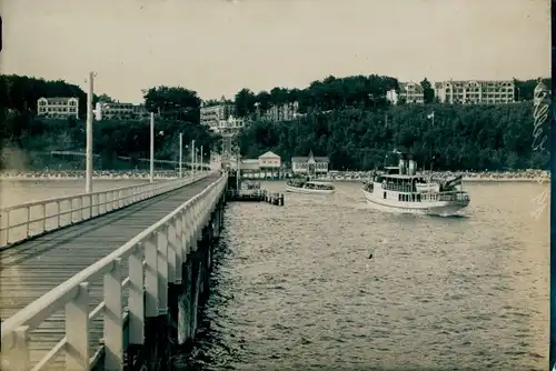
M 400 81 L 548 77 L 549 0 L 0 0 L 0 71 L 138 103 L 305 88 L 327 76 Z

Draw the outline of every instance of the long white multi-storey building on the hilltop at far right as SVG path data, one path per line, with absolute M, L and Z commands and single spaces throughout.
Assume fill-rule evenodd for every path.
M 435 82 L 435 97 L 441 103 L 504 104 L 515 101 L 514 81 L 441 81 Z

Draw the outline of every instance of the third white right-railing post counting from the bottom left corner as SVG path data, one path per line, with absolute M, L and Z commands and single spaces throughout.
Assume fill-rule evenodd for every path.
M 105 274 L 105 370 L 123 368 L 123 319 L 121 294 L 121 259 Z

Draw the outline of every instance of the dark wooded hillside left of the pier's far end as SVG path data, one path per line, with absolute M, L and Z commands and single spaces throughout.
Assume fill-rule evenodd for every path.
M 219 138 L 199 124 L 200 99 L 195 91 L 153 87 L 143 94 L 147 109 L 157 112 L 156 159 L 177 160 L 180 132 L 183 133 L 185 144 L 195 139 L 198 147 L 203 146 L 206 156 L 209 156 L 210 149 L 218 147 Z M 56 120 L 37 117 L 37 99 L 40 97 L 79 98 L 79 119 Z M 112 100 L 102 94 L 95 97 L 95 101 L 99 98 L 105 101 Z M 81 88 L 64 81 L 0 76 L 0 130 L 4 149 L 17 149 L 18 153 L 27 153 L 30 162 L 33 152 L 85 151 L 87 96 Z M 118 156 L 148 158 L 149 128 L 148 119 L 96 121 L 93 152 L 102 157 L 102 167 L 113 167 Z M 131 162 L 130 166 L 133 166 L 133 161 Z M 32 163 L 24 166 L 33 168 Z

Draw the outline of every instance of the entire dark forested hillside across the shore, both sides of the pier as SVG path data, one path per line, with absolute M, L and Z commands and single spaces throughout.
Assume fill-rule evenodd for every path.
M 305 89 L 274 88 L 255 93 L 241 89 L 235 97 L 236 114 L 254 119 L 238 136 L 241 152 L 257 157 L 267 150 L 285 161 L 292 156 L 328 156 L 336 170 L 373 169 L 384 163 L 394 148 L 413 152 L 419 163 L 441 169 L 546 168 L 546 148 L 535 146 L 549 136 L 549 122 L 534 127 L 533 91 L 536 81 L 517 81 L 513 104 L 450 106 L 435 102 L 430 82 L 424 79 L 426 104 L 391 107 L 386 92 L 399 89 L 393 77 L 328 77 Z M 550 86 L 550 80 L 545 83 Z M 37 118 L 40 97 L 78 97 L 79 120 Z M 220 138 L 199 124 L 201 99 L 180 87 L 152 87 L 143 91 L 145 104 L 157 113 L 156 158 L 176 160 L 178 134 L 183 143 L 196 140 L 206 156 L 219 149 Z M 106 94 L 95 100 L 112 100 Z M 216 104 L 217 101 L 207 102 Z M 262 122 L 260 113 L 272 106 L 298 102 L 299 116 L 292 121 Z M 64 81 L 0 76 L 0 130 L 3 148 L 28 152 L 85 150 L 86 94 Z M 434 122 L 427 116 L 435 112 Z M 535 132 L 534 132 L 535 131 Z M 536 136 L 535 136 L 536 133 Z M 536 141 L 536 142 L 535 142 Z M 95 153 L 110 168 L 118 156 L 146 158 L 149 151 L 149 122 L 143 120 L 99 121 L 95 123 Z

